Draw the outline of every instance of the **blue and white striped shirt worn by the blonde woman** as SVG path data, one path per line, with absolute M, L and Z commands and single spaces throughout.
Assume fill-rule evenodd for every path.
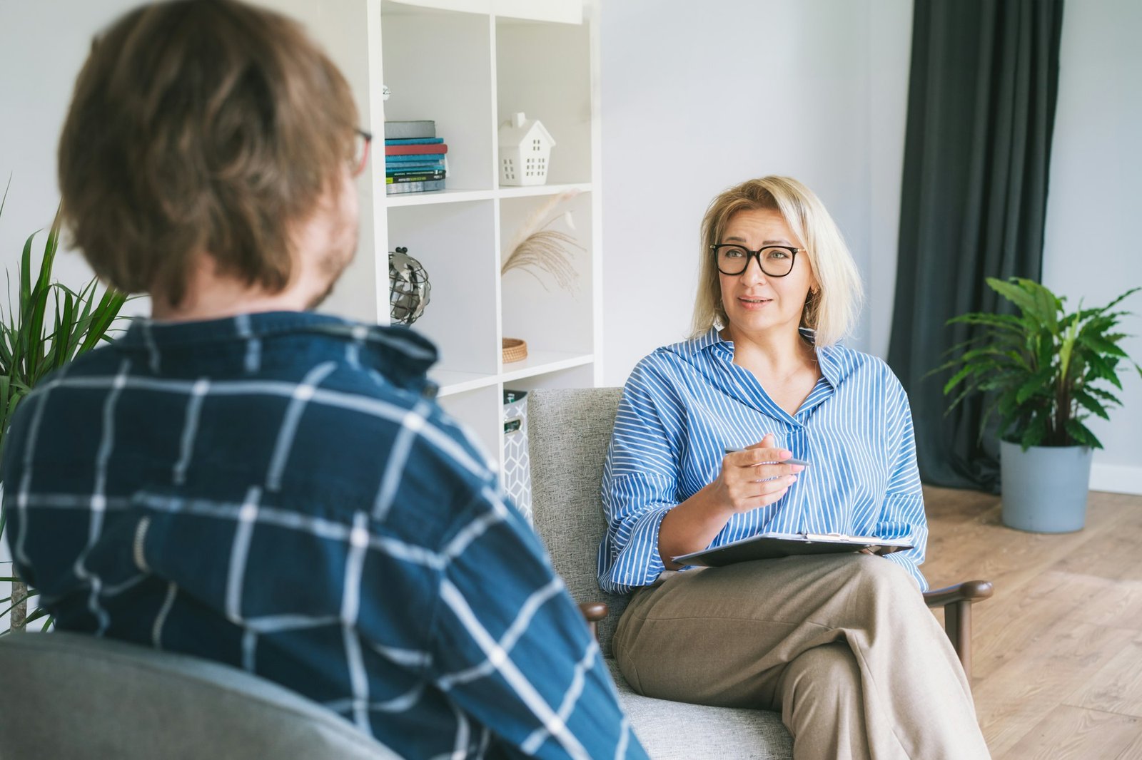
M 908 537 L 915 549 L 886 558 L 927 588 L 918 567 L 927 520 L 908 396 L 878 358 L 841 346 L 818 348 L 817 357 L 822 377 L 793 415 L 733 363 L 733 343 L 714 329 L 635 366 L 603 475 L 604 591 L 653 583 L 665 569 L 658 531 L 666 514 L 717 477 L 726 448 L 769 432 L 811 464 L 775 503 L 731 517 L 710 547 L 762 532 Z

